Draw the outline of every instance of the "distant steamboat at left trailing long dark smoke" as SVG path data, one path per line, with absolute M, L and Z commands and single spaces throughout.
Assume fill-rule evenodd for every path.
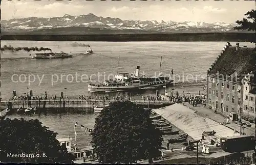
M 44 53 L 35 53 L 35 56 L 32 57 L 33 59 L 65 59 L 65 58 L 72 58 L 73 56 L 60 51 L 59 53 L 56 52 L 44 52 Z

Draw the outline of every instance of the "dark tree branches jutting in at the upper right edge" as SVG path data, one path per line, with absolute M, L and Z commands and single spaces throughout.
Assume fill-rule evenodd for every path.
M 243 20 L 237 20 L 236 23 L 239 26 L 234 27 L 235 30 L 248 30 L 248 31 L 256 31 L 256 10 L 248 11 L 245 16 L 247 18 L 243 18 Z M 252 20 L 252 21 L 251 21 Z M 251 42 L 255 43 L 255 35 L 251 39 Z

